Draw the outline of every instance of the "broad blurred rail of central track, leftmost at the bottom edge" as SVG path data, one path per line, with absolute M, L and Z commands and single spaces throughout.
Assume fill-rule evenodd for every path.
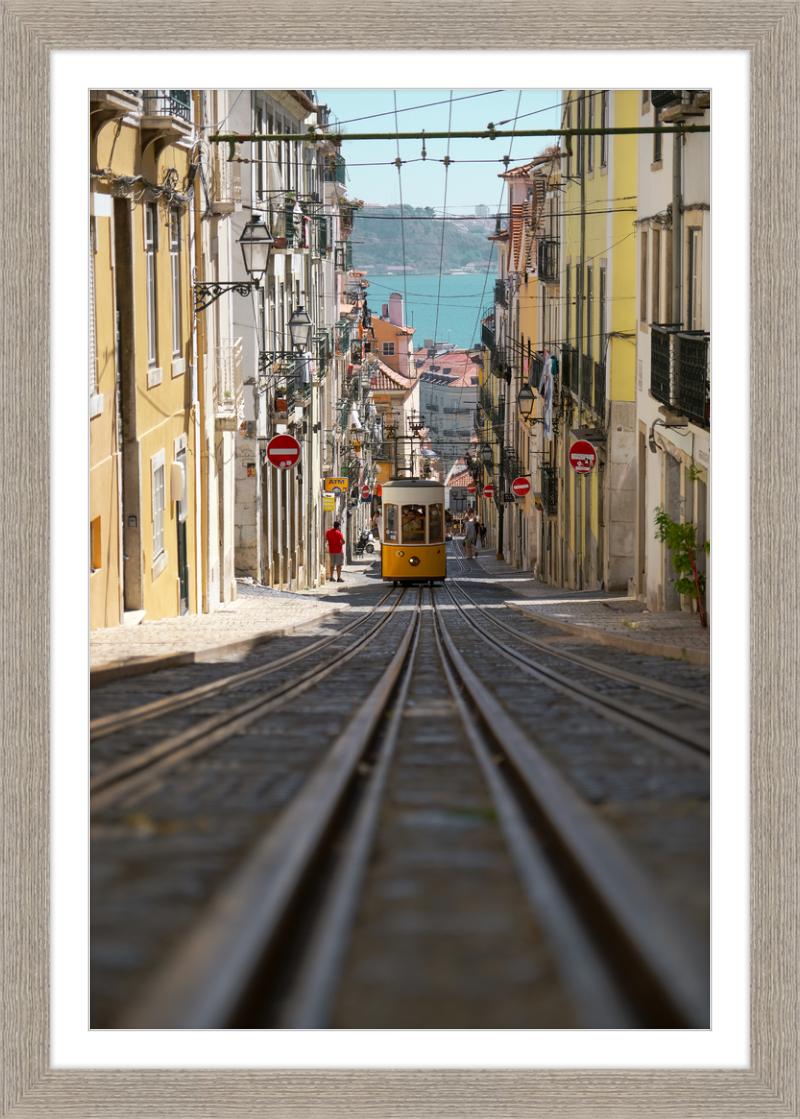
M 305 786 L 211 900 L 204 920 L 154 976 L 121 1029 L 227 1028 L 274 948 L 323 846 L 356 769 L 396 692 L 420 599 L 403 640 L 373 690 Z

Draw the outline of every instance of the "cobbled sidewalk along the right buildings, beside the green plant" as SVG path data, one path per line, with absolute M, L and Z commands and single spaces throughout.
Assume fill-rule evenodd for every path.
M 540 583 L 531 572 L 517 571 L 493 549 L 476 553 L 476 566 L 493 581 L 529 599 L 511 609 L 565 633 L 652 657 L 671 657 L 689 665 L 710 664 L 710 634 L 697 614 L 650 613 L 643 602 L 605 591 L 564 591 Z

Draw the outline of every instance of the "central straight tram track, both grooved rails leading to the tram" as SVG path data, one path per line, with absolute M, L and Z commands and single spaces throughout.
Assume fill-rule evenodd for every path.
M 442 715 L 445 707 L 458 713 L 459 736 L 469 742 L 489 789 L 533 919 L 543 930 L 564 997 L 574 1006 L 574 1023 L 595 1028 L 707 1023 L 707 952 L 693 942 L 620 839 L 471 669 L 439 594 L 418 592 L 397 651 L 375 687 L 119 1026 L 352 1025 L 347 1017 L 337 1019 L 338 991 L 387 787 L 396 780 L 396 754 L 416 741 L 413 727 L 420 724 L 413 723 L 410 688 L 430 683 L 433 657 L 450 705 L 440 699 L 431 711 L 441 708 L 437 717 L 450 717 Z M 421 645 L 427 659 L 417 668 Z M 331 846 L 341 855 L 326 854 Z M 329 873 L 320 881 L 319 864 L 326 859 Z M 309 923 L 311 931 L 303 933 Z M 289 989 L 272 1010 L 265 1009 L 274 1003 L 275 977 L 286 974 L 292 975 Z

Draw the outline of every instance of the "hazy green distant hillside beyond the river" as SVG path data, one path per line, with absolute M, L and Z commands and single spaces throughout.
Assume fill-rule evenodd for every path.
M 355 214 L 350 238 L 355 269 L 371 266 L 382 272 L 405 263 L 415 272 L 439 272 L 442 228 L 442 267 L 445 272 L 489 260 L 492 246 L 487 236 L 495 228 L 493 220 L 453 218 L 442 222 L 435 217 L 430 206 L 404 206 L 402 216 L 401 222 L 399 206 L 367 206 L 364 211 Z

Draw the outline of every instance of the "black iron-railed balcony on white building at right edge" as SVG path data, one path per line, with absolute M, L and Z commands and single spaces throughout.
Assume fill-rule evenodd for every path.
M 710 426 L 709 345 L 703 330 L 650 325 L 650 394 L 702 427 Z

